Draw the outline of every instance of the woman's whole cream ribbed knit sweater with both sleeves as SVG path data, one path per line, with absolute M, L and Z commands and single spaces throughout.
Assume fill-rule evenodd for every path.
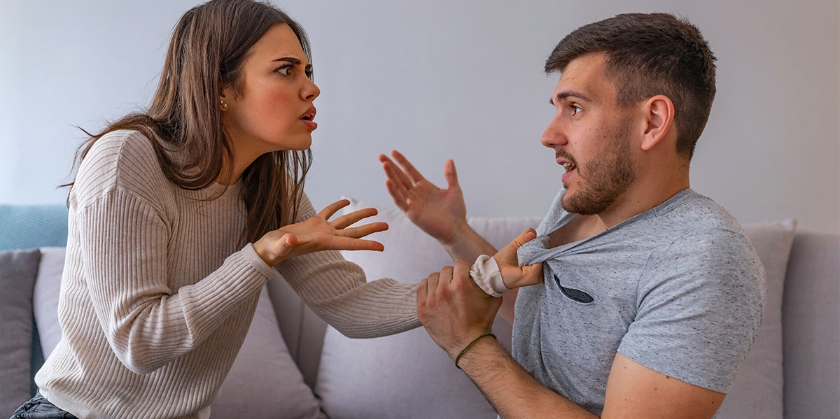
M 367 282 L 337 251 L 272 269 L 239 246 L 242 188 L 177 187 L 136 131 L 97 141 L 70 195 L 62 336 L 35 377 L 47 400 L 79 417 L 208 417 L 269 280 L 351 337 L 419 326 L 416 285 Z M 306 196 L 298 210 L 315 215 Z

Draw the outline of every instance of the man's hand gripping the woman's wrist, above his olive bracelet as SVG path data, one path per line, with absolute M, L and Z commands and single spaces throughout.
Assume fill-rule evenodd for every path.
M 417 286 L 417 317 L 432 340 L 453 359 L 481 333 L 491 332 L 501 298 L 488 296 L 470 278 L 470 264 L 456 260 Z

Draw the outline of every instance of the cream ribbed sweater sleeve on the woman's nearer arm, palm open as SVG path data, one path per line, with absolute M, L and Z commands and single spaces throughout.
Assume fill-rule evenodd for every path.
M 207 277 L 174 289 L 179 281 L 167 274 L 167 265 L 178 263 L 169 258 L 171 221 L 155 200 L 170 186 L 144 167 L 156 164 L 153 155 L 139 158 L 150 148 L 99 141 L 74 186 L 81 269 L 114 354 L 147 374 L 196 348 L 274 272 L 246 246 Z

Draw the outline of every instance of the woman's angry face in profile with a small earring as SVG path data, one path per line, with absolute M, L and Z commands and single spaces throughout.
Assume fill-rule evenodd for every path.
M 228 104 L 222 123 L 237 160 L 308 149 L 318 127 L 312 101 L 321 91 L 309 79 L 312 65 L 291 28 L 276 24 L 266 31 L 251 47 L 240 74 L 241 92 L 224 86 L 220 97 Z

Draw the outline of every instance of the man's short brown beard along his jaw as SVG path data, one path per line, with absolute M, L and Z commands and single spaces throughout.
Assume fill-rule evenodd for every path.
M 629 131 L 629 121 L 622 121 L 602 157 L 577 167 L 577 191 L 563 196 L 564 210 L 582 215 L 601 213 L 633 184 L 636 172 L 630 159 Z

